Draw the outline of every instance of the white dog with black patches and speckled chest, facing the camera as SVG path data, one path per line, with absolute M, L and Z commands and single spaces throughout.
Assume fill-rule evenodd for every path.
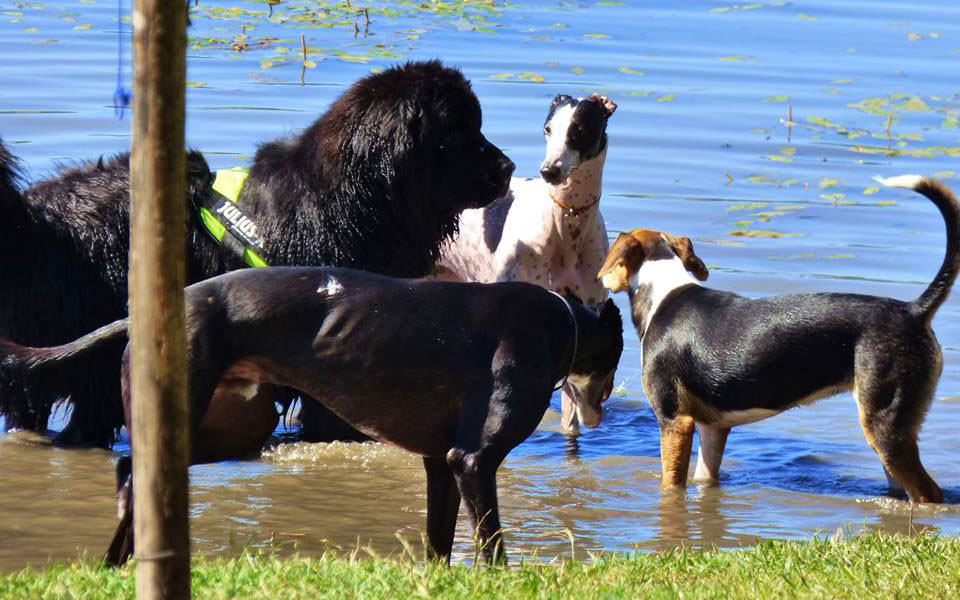
M 460 234 L 444 247 L 438 277 L 526 281 L 588 306 L 603 302 L 607 291 L 596 273 L 610 245 L 599 202 L 607 120 L 616 108 L 596 94 L 557 95 L 543 127 L 547 151 L 540 177 L 514 177 L 506 196 L 463 211 Z M 576 433 L 571 394 L 566 386 L 562 423 Z

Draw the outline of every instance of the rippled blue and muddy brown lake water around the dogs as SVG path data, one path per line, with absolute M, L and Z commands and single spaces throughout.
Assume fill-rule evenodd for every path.
M 609 95 L 619 105 L 601 202 L 611 236 L 635 227 L 689 236 L 714 287 L 910 299 L 940 264 L 937 211 L 871 177 L 937 174 L 958 185 L 952 0 L 350 4 L 278 2 L 273 21 L 266 2 L 191 8 L 188 143 L 214 168 L 245 165 L 258 142 L 304 128 L 371 69 L 440 57 L 472 80 L 485 133 L 518 175 L 537 172 L 555 94 Z M 111 108 L 116 14 L 104 0 L 0 0 L 0 135 L 31 180 L 127 148 L 129 119 Z M 315 66 L 303 66 L 301 35 Z M 921 435 L 948 504 L 884 496 L 849 395 L 734 429 L 719 487 L 662 496 L 659 433 L 628 324 L 603 425 L 570 448 L 551 410 L 501 469 L 508 549 L 569 555 L 567 531 L 578 556 L 838 529 L 960 533 L 958 307 L 949 300 L 934 321 L 944 371 Z M 0 436 L 0 568 L 99 555 L 115 525 L 115 459 Z M 424 528 L 419 460 L 379 445 L 285 445 L 196 467 L 191 482 L 201 553 L 400 552 L 396 536 L 419 547 Z M 472 556 L 465 519 L 455 550 Z

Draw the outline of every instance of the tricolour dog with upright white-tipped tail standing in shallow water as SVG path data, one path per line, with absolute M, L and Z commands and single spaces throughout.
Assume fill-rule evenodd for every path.
M 638 229 L 616 239 L 598 278 L 630 296 L 665 487 L 686 485 L 695 424 L 696 478 L 715 481 L 731 427 L 852 391 L 891 492 L 943 501 L 917 437 L 943 367 L 930 322 L 960 266 L 960 207 L 933 179 L 879 181 L 923 194 L 946 223 L 943 264 L 911 302 L 842 293 L 751 300 L 702 287 L 707 269 L 687 238 Z

